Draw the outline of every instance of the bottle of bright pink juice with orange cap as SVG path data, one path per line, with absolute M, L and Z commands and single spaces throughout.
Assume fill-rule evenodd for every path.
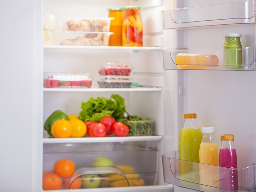
M 220 188 L 238 190 L 237 156 L 234 144 L 234 135 L 221 135 L 220 140 Z

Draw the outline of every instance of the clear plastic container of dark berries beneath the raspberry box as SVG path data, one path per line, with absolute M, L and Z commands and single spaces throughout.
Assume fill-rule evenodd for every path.
M 130 76 L 105 76 L 98 81 L 100 88 L 131 88 L 132 77 Z

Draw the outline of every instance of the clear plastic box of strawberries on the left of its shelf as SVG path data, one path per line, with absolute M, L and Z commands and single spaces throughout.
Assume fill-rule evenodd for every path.
M 45 73 L 44 88 L 90 88 L 89 73 Z

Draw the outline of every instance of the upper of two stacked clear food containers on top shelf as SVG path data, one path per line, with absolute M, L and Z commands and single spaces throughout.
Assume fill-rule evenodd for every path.
M 114 18 L 65 18 L 62 31 L 108 32 Z

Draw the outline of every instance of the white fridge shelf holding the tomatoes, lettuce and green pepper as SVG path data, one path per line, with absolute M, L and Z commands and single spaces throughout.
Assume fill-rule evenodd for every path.
M 94 142 L 125 142 L 125 141 L 159 141 L 161 135 L 129 136 L 129 137 L 82 137 L 82 138 L 44 138 L 43 143 L 94 143 Z

